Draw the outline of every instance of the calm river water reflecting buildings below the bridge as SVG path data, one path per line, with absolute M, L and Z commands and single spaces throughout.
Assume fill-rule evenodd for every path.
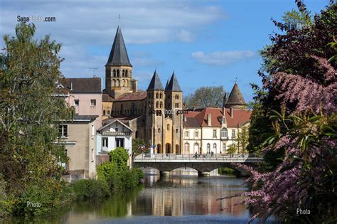
M 112 196 L 100 203 L 80 203 L 54 218 L 34 223 L 247 223 L 250 212 L 240 203 L 243 198 L 217 200 L 248 190 L 245 178 L 198 177 L 192 169 L 159 176 L 146 169 L 144 187 Z

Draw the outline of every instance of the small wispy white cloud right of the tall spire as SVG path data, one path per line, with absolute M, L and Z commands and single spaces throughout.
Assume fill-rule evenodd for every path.
M 203 51 L 193 52 L 191 57 L 198 62 L 207 65 L 228 65 L 240 60 L 247 60 L 255 56 L 251 50 L 234 51 L 215 51 L 213 53 L 204 53 Z

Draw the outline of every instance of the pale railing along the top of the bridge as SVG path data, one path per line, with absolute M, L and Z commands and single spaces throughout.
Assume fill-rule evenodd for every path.
M 135 157 L 135 160 L 197 160 L 197 161 L 214 161 L 214 160 L 245 160 L 245 159 L 262 159 L 257 154 L 141 154 Z

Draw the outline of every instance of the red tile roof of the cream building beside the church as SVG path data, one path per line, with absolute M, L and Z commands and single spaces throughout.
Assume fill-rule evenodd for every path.
M 207 117 L 211 114 L 211 126 L 221 127 L 221 121 L 223 117 L 223 108 L 211 108 L 207 107 L 200 112 L 188 112 L 186 115 L 186 122 L 183 122 L 184 127 L 196 127 L 196 121 L 198 121 L 198 127 L 208 127 Z M 233 109 L 233 117 L 230 117 L 230 109 L 225 109 L 225 116 L 227 121 L 227 127 L 241 126 L 250 121 L 251 110 Z

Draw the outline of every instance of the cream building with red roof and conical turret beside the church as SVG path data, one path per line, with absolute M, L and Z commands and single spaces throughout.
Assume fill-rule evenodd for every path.
M 237 144 L 237 135 L 250 124 L 252 111 L 235 83 L 230 96 L 225 95 L 223 108 L 206 107 L 190 110 L 183 116 L 184 154 L 226 154 L 228 146 Z M 241 153 L 241 148 L 237 153 Z

